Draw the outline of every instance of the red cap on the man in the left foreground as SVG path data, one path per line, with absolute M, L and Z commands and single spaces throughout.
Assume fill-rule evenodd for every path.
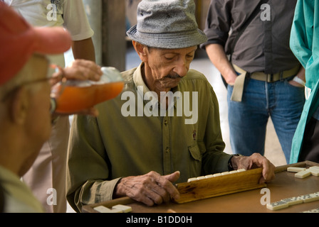
M 70 49 L 70 33 L 61 27 L 33 27 L 0 1 L 0 85 L 18 73 L 30 57 L 63 54 Z

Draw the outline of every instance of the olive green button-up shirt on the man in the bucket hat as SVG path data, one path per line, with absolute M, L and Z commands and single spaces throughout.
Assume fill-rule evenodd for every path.
M 178 182 L 186 182 L 190 177 L 228 171 L 231 155 L 223 152 L 219 105 L 206 77 L 189 70 L 172 89 L 173 94 L 182 94 L 172 103 L 174 114 L 168 116 L 169 109 L 167 116 L 155 116 L 147 111 L 155 106 L 147 98 L 150 90 L 143 82 L 141 66 L 122 73 L 127 82 L 122 94 L 99 104 L 97 118 L 75 116 L 73 120 L 67 171 L 67 197 L 73 209 L 113 199 L 121 177 L 152 170 L 169 175 L 179 170 Z M 133 99 L 132 94 L 135 100 L 128 99 L 129 95 Z M 198 99 L 193 100 L 196 96 Z M 183 106 L 180 116 L 178 105 L 185 100 L 189 106 Z M 135 104 L 133 108 L 128 101 Z M 193 116 L 187 108 L 192 109 Z M 131 116 L 127 116 L 128 111 Z M 194 123 L 187 123 L 190 118 Z

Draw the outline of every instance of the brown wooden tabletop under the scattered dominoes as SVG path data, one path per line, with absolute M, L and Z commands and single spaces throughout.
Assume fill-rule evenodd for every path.
M 319 192 L 319 177 L 309 176 L 304 179 L 294 177 L 293 172 L 287 172 L 287 167 L 310 167 L 313 165 L 319 166 L 315 162 L 299 162 L 293 165 L 283 165 L 276 167 L 276 177 L 272 182 L 268 183 L 266 189 L 270 192 L 270 201 L 280 201 L 293 196 L 301 196 Z M 159 206 L 145 206 L 140 202 L 129 199 L 128 197 L 105 201 L 100 204 L 92 204 L 83 206 L 83 212 L 96 213 L 93 209 L 95 206 L 112 207 L 115 204 L 123 204 L 132 207 L 132 213 L 290 213 L 303 212 L 310 209 L 318 209 L 319 201 L 312 201 L 304 204 L 297 204 L 286 209 L 272 211 L 266 208 L 261 201 L 265 201 L 266 194 L 261 193 L 261 189 L 253 189 L 246 192 L 238 192 L 227 194 L 224 196 L 216 196 L 210 199 L 202 199 L 192 201 L 185 204 L 162 204 Z

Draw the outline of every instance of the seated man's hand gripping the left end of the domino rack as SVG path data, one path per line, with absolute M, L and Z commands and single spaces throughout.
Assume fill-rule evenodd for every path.
M 129 196 L 147 206 L 167 203 L 171 198 L 179 199 L 179 192 L 172 184 L 179 175 L 178 171 L 166 176 L 152 171 L 146 175 L 124 177 L 115 188 L 115 196 Z

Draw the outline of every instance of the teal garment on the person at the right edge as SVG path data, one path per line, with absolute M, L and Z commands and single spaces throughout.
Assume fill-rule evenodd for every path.
M 291 163 L 298 162 L 305 126 L 319 106 L 319 2 L 298 0 L 291 28 L 291 50 L 305 68 L 305 86 L 311 90 L 291 146 Z

